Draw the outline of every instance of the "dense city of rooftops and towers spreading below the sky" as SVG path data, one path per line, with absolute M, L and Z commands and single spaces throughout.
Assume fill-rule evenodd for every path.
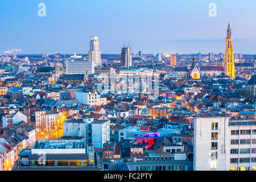
M 221 28 L 221 52 L 0 52 L 0 171 L 255 171 L 256 55 Z

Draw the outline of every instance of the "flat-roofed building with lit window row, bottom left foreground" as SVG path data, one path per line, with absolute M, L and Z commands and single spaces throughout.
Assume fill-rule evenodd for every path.
M 84 140 L 37 140 L 31 149 L 23 149 L 14 171 L 19 170 L 98 170 L 92 147 Z

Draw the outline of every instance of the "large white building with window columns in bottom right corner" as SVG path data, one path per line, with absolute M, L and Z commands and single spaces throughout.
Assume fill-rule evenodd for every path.
M 209 114 L 194 122 L 195 171 L 247 171 L 256 168 L 256 123 Z

